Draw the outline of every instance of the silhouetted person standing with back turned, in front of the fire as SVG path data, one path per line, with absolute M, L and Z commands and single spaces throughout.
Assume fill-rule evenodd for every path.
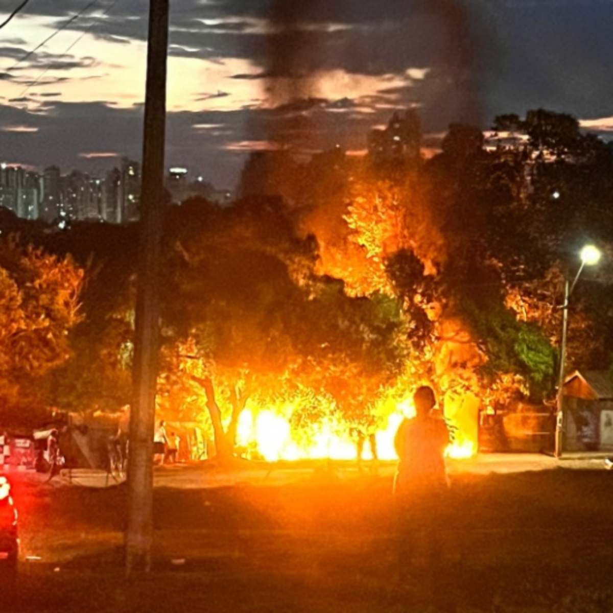
M 406 566 L 421 533 L 427 547 L 425 585 L 436 599 L 441 512 L 447 506 L 449 493 L 444 462 L 449 432 L 443 419 L 432 414 L 435 404 L 432 388 L 419 387 L 414 395 L 416 416 L 405 419 L 398 428 L 394 445 L 400 462 L 394 479 L 394 497 L 400 531 L 400 574 L 406 576 Z

